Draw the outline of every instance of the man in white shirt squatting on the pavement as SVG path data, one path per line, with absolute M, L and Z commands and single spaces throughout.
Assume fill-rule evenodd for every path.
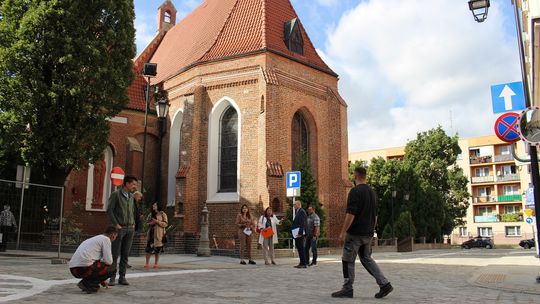
M 82 279 L 77 286 L 86 293 L 99 290 L 99 284 L 107 286 L 106 280 L 115 275 L 111 253 L 111 242 L 118 230 L 109 226 L 104 234 L 96 235 L 82 242 L 69 261 L 71 274 Z

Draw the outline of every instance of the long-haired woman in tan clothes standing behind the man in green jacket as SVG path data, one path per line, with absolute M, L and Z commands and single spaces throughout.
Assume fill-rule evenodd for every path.
M 165 229 L 169 225 L 167 220 L 167 214 L 163 212 L 160 204 L 157 202 L 152 204 L 151 212 L 148 214 L 148 236 L 146 242 L 146 264 L 144 268 L 150 267 L 150 256 L 155 254 L 154 269 L 158 268 L 159 255 L 163 252 L 163 236 L 165 235 Z

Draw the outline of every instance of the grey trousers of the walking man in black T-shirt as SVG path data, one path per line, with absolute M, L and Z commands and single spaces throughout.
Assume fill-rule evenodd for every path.
M 354 283 L 354 262 L 356 256 L 360 257 L 362 266 L 375 278 L 377 284 L 382 287 L 388 284 L 388 280 L 381 269 L 371 257 L 371 236 L 351 235 L 347 233 L 345 245 L 343 246 L 343 289 L 352 289 Z

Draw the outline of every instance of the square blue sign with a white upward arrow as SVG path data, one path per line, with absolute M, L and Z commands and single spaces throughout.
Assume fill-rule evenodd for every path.
M 493 113 L 521 111 L 525 109 L 523 82 L 503 83 L 491 86 Z

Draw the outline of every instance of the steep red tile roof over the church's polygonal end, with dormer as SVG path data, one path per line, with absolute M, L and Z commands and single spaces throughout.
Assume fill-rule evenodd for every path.
M 167 32 L 151 58 L 152 83 L 189 67 L 231 56 L 271 51 L 336 75 L 319 57 L 300 24 L 304 55 L 287 49 L 285 22 L 298 18 L 289 0 L 205 0 Z

